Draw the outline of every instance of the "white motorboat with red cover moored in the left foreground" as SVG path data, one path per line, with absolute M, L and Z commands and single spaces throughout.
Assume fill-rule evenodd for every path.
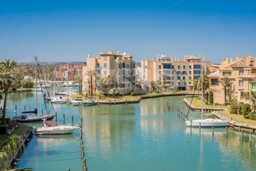
M 79 125 L 59 125 L 55 122 L 43 120 L 43 127 L 38 127 L 35 131 L 37 135 L 50 135 L 50 134 L 70 134 L 79 128 Z

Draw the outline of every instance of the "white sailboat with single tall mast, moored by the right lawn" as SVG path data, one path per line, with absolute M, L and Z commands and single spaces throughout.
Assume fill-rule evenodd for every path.
M 201 119 L 195 119 L 195 120 L 186 120 L 186 126 L 187 127 L 227 127 L 229 123 L 226 120 L 222 119 L 204 119 L 203 118 L 203 62 L 201 63 Z M 191 101 L 192 103 L 192 101 Z M 188 110 L 189 111 L 189 110 Z

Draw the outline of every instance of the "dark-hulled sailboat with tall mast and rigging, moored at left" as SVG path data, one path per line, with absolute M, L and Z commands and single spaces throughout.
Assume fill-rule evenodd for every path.
M 37 57 L 35 57 L 35 85 L 37 85 L 37 65 L 39 66 L 38 61 L 37 61 Z M 39 77 L 39 79 L 40 79 L 40 77 Z M 36 89 L 37 89 L 37 87 L 36 87 Z M 42 90 L 42 87 L 41 87 L 41 90 Z M 48 93 L 47 87 L 46 87 L 46 92 Z M 38 104 L 37 104 L 37 93 L 38 92 L 35 91 L 35 109 L 33 111 L 23 111 L 21 113 L 21 116 L 15 116 L 14 120 L 16 122 L 20 122 L 20 123 L 43 122 L 43 119 L 44 120 L 52 120 L 55 117 L 55 115 L 50 115 L 50 112 L 47 113 L 47 115 L 38 115 L 38 113 L 37 113 L 37 106 L 38 106 Z M 44 103 L 45 103 L 45 101 L 44 101 Z M 52 106 L 52 108 L 53 108 L 53 106 Z M 53 111 L 55 111 L 54 108 L 53 108 Z M 27 114 L 30 114 L 30 115 L 27 115 Z M 31 114 L 33 114 L 33 115 L 31 115 Z

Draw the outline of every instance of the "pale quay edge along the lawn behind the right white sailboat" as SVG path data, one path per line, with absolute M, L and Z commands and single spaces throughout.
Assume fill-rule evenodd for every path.
M 253 132 L 255 132 L 255 130 L 256 130 L 256 125 L 235 122 L 234 120 L 227 118 L 226 116 L 223 116 L 222 114 L 217 113 L 217 111 L 213 111 L 212 114 L 214 116 L 217 116 L 219 119 L 227 120 L 227 122 L 229 122 L 233 128 L 235 128 L 235 127 L 238 129 L 245 128 L 245 129 L 250 129 Z

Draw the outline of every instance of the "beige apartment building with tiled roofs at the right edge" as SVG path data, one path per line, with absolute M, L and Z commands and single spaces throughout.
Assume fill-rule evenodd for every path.
M 223 77 L 231 79 L 232 87 L 226 90 L 226 102 L 229 102 L 230 89 L 232 88 L 231 98 L 236 98 L 240 102 L 249 102 L 248 97 L 251 91 L 256 91 L 256 57 L 248 55 L 246 58 L 236 55 L 232 58 L 222 60 L 219 71 L 207 76 L 209 79 L 209 89 L 213 91 L 213 102 L 224 104 L 224 89 L 219 83 Z

